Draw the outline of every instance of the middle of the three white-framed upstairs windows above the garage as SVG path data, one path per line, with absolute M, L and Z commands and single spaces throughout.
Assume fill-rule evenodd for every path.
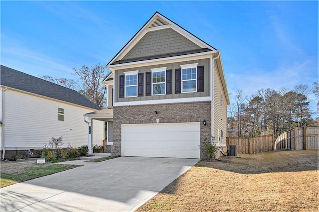
M 165 73 L 166 67 L 155 68 L 152 70 L 152 95 L 165 94 Z

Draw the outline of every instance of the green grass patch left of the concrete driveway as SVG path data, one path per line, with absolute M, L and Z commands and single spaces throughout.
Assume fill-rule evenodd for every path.
M 48 166 L 30 167 L 21 173 L 0 173 L 0 188 L 34 178 L 51 175 L 57 172 L 62 172 L 68 169 L 73 169 L 75 167 L 78 167 L 78 165 L 50 164 Z

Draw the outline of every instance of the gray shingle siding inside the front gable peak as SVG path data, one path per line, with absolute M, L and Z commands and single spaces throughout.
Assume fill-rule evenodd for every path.
M 201 49 L 171 28 L 147 32 L 123 60 Z

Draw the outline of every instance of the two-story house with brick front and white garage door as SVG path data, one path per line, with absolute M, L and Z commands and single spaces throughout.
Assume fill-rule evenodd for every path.
M 211 137 L 226 148 L 229 97 L 217 49 L 156 12 L 107 67 L 109 105 L 100 113 L 112 155 L 203 158 L 199 147 Z

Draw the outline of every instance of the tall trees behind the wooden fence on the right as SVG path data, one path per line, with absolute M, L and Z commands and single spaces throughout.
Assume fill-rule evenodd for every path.
M 274 134 L 277 137 L 294 126 L 318 125 L 319 118 L 312 118 L 309 101 L 311 92 L 319 97 L 318 82 L 313 86 L 312 91 L 303 84 L 295 86 L 292 91 L 286 88 L 260 89 L 251 97 L 238 90 L 234 103 L 228 107 L 228 136 Z M 319 112 L 319 102 L 317 106 Z

